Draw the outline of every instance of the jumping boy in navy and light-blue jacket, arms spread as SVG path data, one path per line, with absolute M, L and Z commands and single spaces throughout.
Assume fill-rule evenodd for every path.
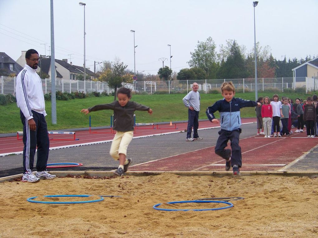
M 242 152 L 239 146 L 239 134 L 242 132 L 240 128 L 241 116 L 240 109 L 244 107 L 260 107 L 259 102 L 248 101 L 241 98 L 234 98 L 235 87 L 232 82 L 224 82 L 221 86 L 222 100 L 215 102 L 206 110 L 206 115 L 213 123 L 219 123 L 213 113 L 220 112 L 221 130 L 215 146 L 215 153 L 225 159 L 225 170 L 233 167 L 233 175 L 239 175 L 239 168 L 242 167 Z M 227 142 L 231 141 L 231 149 L 224 149 Z

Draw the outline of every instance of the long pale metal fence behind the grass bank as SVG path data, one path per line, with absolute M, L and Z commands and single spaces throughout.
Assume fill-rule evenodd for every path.
M 43 93 L 51 92 L 51 80 L 41 79 L 43 86 Z M 293 77 L 286 78 L 259 78 L 257 82 L 257 91 L 264 90 L 279 90 L 295 89 L 299 87 L 306 87 L 308 78 L 298 78 L 295 83 Z M 175 94 L 175 93 L 188 93 L 192 90 L 192 83 L 199 84 L 199 91 L 201 93 L 211 93 L 215 90 L 220 90 L 220 86 L 223 82 L 232 81 L 236 90 L 240 92 L 255 91 L 255 79 L 207 79 L 207 80 L 172 80 L 172 81 L 135 81 L 134 84 L 126 83 L 124 86 L 131 88 L 133 91 L 139 94 Z M 0 78 L 0 94 L 12 94 L 15 95 L 15 77 Z M 307 83 L 308 84 L 308 83 Z M 309 83 L 310 84 L 310 83 Z M 308 85 L 309 85 L 308 84 Z M 310 84 L 312 85 L 312 84 Z M 108 87 L 107 83 L 100 81 L 81 81 L 81 80 L 64 80 L 57 79 L 56 86 L 57 91 L 61 92 L 107 92 L 110 94 L 114 91 Z M 306 87 L 306 90 L 312 87 Z

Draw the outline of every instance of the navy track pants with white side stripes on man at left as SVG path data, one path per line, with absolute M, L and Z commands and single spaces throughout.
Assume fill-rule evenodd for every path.
M 49 136 L 47 133 L 47 124 L 45 116 L 32 110 L 33 120 L 36 123 L 36 130 L 30 130 L 28 121 L 20 110 L 20 118 L 23 124 L 23 169 L 25 172 L 32 173 L 34 164 L 35 150 L 38 147 L 37 153 L 37 171 L 46 170 L 46 164 L 49 157 Z

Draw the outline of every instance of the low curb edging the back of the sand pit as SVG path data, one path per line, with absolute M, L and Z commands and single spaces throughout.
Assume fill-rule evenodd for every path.
M 114 171 L 49 171 L 50 174 L 56 175 L 57 177 L 64 177 L 66 175 L 86 175 L 86 176 L 97 176 L 97 177 L 113 177 Z M 160 174 L 175 174 L 180 176 L 213 176 L 213 177 L 232 177 L 232 171 L 128 171 L 124 176 L 151 176 Z M 0 178 L 0 182 L 12 181 L 16 178 L 22 177 L 23 174 L 11 175 Z M 317 178 L 318 171 L 240 171 L 242 176 L 255 176 L 255 175 L 280 175 L 280 176 L 298 176 L 298 177 L 309 177 Z

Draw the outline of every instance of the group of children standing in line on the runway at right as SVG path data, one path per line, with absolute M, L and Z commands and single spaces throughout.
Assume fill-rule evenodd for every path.
M 295 104 L 287 97 L 279 101 L 277 94 L 273 98 L 259 97 L 257 102 L 261 108 L 255 108 L 257 116 L 257 136 L 265 138 L 290 136 L 293 133 L 292 124 L 297 122 L 295 132 L 303 132 L 304 125 L 307 129 L 307 137 L 317 136 L 317 108 L 318 96 L 308 97 L 307 100 L 296 98 Z

